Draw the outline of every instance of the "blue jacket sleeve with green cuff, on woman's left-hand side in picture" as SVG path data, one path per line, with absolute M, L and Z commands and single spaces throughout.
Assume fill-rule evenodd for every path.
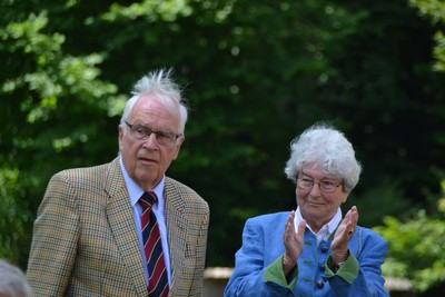
M 243 246 L 236 253 L 235 270 L 225 289 L 225 296 L 293 296 L 291 286 L 286 284 L 284 274 L 279 274 L 277 268 L 281 257 L 264 267 L 265 238 L 257 221 L 246 221 Z

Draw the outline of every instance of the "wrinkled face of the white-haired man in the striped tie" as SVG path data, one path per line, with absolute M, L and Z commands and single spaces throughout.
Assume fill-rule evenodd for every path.
M 141 97 L 135 105 L 128 123 L 141 123 L 152 131 L 178 133 L 179 119 L 171 115 L 151 95 Z M 137 139 L 130 128 L 119 125 L 119 150 L 123 166 L 135 182 L 146 191 L 151 190 L 162 178 L 171 161 L 178 157 L 185 138 L 179 137 L 174 145 L 159 145 L 155 133 L 147 139 Z

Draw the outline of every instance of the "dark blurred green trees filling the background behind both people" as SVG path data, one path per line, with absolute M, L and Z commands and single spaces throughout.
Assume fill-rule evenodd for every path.
M 234 264 L 246 218 L 295 208 L 289 141 L 318 120 L 364 166 L 348 201 L 362 225 L 428 220 L 445 168 L 443 6 L 428 2 L 2 0 L 0 257 L 26 268 L 51 175 L 111 160 L 132 85 L 160 67 L 190 106 L 168 175 L 210 205 L 208 266 Z

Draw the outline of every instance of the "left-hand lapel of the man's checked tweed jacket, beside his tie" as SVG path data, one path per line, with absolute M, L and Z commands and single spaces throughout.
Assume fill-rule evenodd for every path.
M 110 164 L 105 190 L 109 195 L 106 216 L 122 257 L 122 266 L 126 267 L 129 279 L 134 280 L 138 296 L 147 296 L 139 239 L 129 195 L 120 170 L 119 158 Z

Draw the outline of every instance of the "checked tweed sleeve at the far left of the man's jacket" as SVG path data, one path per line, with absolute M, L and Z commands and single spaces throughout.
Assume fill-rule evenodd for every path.
M 62 175 L 49 182 L 33 226 L 27 278 L 36 296 L 65 296 L 76 258 L 78 216 Z

